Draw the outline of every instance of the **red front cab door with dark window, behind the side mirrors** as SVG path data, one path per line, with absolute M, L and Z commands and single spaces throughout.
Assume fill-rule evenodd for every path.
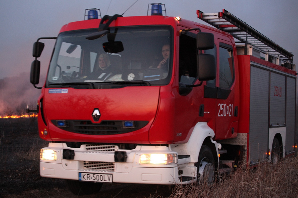
M 180 29 L 185 28 L 180 27 Z M 205 105 L 202 100 L 204 93 L 203 86 L 196 86 L 200 84 L 197 78 L 196 34 L 197 31 L 185 32 L 179 37 L 178 41 L 179 60 L 177 61 L 178 73 L 176 76 L 178 76 L 179 88 L 177 96 L 175 97 L 177 104 L 175 105 L 174 116 L 175 141 L 186 139 L 190 129 L 192 129 L 197 122 L 208 122 L 211 120 L 211 113 L 204 115 L 204 110 L 201 112 L 201 109 L 204 109 L 202 107 Z M 187 87 L 192 85 L 195 85 L 195 87 Z M 210 106 L 206 107 L 206 111 L 212 111 L 212 109 L 209 108 Z

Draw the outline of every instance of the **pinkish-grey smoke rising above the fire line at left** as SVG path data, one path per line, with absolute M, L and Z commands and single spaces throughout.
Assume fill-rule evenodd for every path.
M 41 76 L 40 82 L 44 82 L 43 79 Z M 26 104 L 36 105 L 40 92 L 30 83 L 30 73 L 0 79 L 0 116 L 7 112 L 17 114 L 18 108 L 25 109 Z

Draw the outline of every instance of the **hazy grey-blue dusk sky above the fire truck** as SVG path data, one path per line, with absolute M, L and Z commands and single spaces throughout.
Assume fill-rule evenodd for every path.
M 0 79 L 29 72 L 33 43 L 55 37 L 69 22 L 84 20 L 86 8 L 103 15 L 122 14 L 136 0 L 0 0 Z M 297 0 L 138 0 L 124 16 L 147 15 L 148 3 L 164 3 L 168 16 L 201 23 L 196 10 L 205 13 L 226 9 L 251 27 L 294 54 L 298 63 Z M 41 57 L 46 72 L 53 42 L 46 42 Z M 29 80 L 29 79 L 28 79 Z

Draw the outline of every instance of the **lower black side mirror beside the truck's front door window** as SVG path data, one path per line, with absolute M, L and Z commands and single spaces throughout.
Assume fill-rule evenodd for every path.
M 199 54 L 198 61 L 198 78 L 200 81 L 213 80 L 216 77 L 216 62 L 214 55 Z

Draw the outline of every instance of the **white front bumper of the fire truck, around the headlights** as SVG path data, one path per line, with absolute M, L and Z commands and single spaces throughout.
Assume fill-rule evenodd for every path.
M 179 183 L 178 165 L 140 164 L 143 153 L 173 153 L 166 146 L 137 146 L 133 150 L 117 150 L 127 153 L 126 162 L 115 162 L 115 152 L 88 151 L 86 148 L 70 148 L 64 143 L 49 143 L 56 160 L 40 160 L 40 175 L 49 178 L 79 180 L 79 173 L 107 175 L 111 181 L 100 182 L 143 183 L 172 185 Z M 73 160 L 62 159 L 63 149 L 75 150 Z M 177 155 L 178 156 L 178 155 Z M 94 168 L 95 167 L 95 168 Z

